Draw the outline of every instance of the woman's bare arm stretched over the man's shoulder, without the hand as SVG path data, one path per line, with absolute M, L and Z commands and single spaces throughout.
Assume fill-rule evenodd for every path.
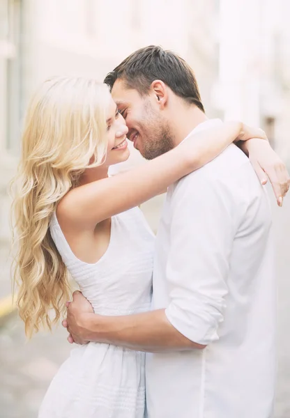
M 76 187 L 59 203 L 58 216 L 82 229 L 94 228 L 98 222 L 140 205 L 204 166 L 238 138 L 242 130 L 243 123 L 224 123 L 192 134 L 173 150 L 141 167 Z

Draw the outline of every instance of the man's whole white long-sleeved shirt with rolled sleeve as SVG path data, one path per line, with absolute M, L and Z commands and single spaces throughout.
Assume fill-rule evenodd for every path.
M 166 308 L 176 330 L 208 346 L 147 355 L 148 418 L 272 417 L 270 225 L 266 189 L 234 145 L 169 187 L 156 239 L 153 309 Z

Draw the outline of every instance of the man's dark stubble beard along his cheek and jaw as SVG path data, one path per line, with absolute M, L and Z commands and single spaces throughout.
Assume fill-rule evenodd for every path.
M 144 127 L 142 134 L 144 138 L 142 156 L 146 160 L 153 160 L 153 158 L 174 148 L 169 123 L 162 120 L 161 117 L 158 118 L 150 104 L 146 104 L 143 123 L 146 127 Z

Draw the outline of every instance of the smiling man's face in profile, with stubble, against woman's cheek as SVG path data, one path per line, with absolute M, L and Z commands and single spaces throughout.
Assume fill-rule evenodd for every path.
M 142 97 L 137 90 L 126 88 L 123 81 L 117 79 L 112 97 L 128 126 L 128 139 L 146 160 L 174 148 L 169 123 L 158 108 L 153 93 Z

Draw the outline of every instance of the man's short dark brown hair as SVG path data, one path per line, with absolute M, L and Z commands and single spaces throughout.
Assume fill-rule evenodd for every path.
M 154 80 L 162 80 L 185 102 L 204 111 L 197 80 L 188 63 L 159 46 L 151 45 L 133 52 L 109 72 L 104 83 L 112 90 L 117 79 L 122 79 L 125 86 L 135 88 L 141 95 L 148 94 Z

